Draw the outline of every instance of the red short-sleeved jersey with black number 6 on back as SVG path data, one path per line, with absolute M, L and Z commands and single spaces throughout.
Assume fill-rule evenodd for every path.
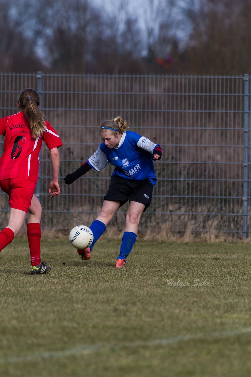
M 0 158 L 0 179 L 26 178 L 37 182 L 42 142 L 49 150 L 63 145 L 50 123 L 45 123 L 44 132 L 33 139 L 23 111 L 0 119 L 0 135 L 5 136 Z

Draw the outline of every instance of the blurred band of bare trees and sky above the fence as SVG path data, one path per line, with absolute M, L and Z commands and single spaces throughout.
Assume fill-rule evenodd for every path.
M 250 0 L 110 0 L 106 7 L 90 0 L 0 0 L 0 6 L 2 70 L 250 70 Z M 167 56 L 175 64 L 160 67 L 158 58 Z

